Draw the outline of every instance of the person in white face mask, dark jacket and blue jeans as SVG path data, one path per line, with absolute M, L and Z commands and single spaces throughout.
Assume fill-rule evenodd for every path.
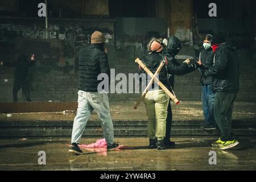
M 214 92 L 212 89 L 213 84 L 213 76 L 204 77 L 203 73 L 207 71 L 213 65 L 213 56 L 214 53 L 212 51 L 212 35 L 207 34 L 204 36 L 203 47 L 204 50 L 199 54 L 199 61 L 201 61 L 201 67 L 199 71 L 202 73 L 200 78 L 201 83 L 201 98 L 203 102 L 203 111 L 204 111 L 204 126 L 202 128 L 204 130 L 215 130 L 216 122 L 214 118 Z

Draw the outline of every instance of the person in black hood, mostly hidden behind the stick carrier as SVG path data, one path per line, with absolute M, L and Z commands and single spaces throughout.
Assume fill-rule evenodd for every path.
M 181 41 L 178 38 L 176 38 L 176 36 L 172 35 L 167 39 L 166 48 L 164 49 L 162 55 L 168 57 L 170 64 L 174 64 L 176 67 L 179 67 L 180 63 L 177 62 L 177 60 L 175 59 L 175 56 L 179 53 L 181 47 L 182 47 Z M 198 67 L 198 64 L 188 64 L 189 69 L 187 69 L 187 71 L 179 75 L 185 75 L 187 73 L 195 71 L 197 67 Z M 170 91 L 173 92 L 175 74 L 168 73 L 167 78 L 168 78 L 168 84 L 170 85 L 170 88 L 171 88 Z M 171 102 L 169 102 L 168 104 L 167 113 L 168 114 L 166 119 L 166 137 L 164 137 L 164 144 L 167 147 L 174 147 L 175 142 L 171 141 L 171 127 L 172 127 Z

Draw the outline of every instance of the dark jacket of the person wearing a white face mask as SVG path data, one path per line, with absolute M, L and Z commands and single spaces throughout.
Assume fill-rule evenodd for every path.
M 209 48 L 207 50 L 204 49 L 203 51 L 200 52 L 199 59 L 201 59 L 202 64 L 203 64 L 199 68 L 199 71 L 201 73 L 204 73 L 210 67 L 212 67 L 212 65 L 213 65 L 213 56 L 214 56 L 214 53 L 212 51 L 212 48 Z M 204 77 L 204 74 L 202 74 L 201 78 L 200 78 L 200 82 L 201 82 L 202 85 L 212 84 L 213 83 L 213 76 L 209 75 L 207 77 Z

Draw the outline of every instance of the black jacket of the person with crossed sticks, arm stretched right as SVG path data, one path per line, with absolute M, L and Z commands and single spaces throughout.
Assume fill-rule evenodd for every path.
M 167 73 L 171 75 L 185 75 L 186 73 L 192 72 L 196 69 L 196 67 L 192 67 L 190 65 L 188 66 L 187 63 L 182 63 L 180 65 L 174 64 L 172 63 L 170 56 L 164 56 L 167 58 L 167 63 L 166 66 L 164 66 L 159 73 L 159 80 L 164 86 L 166 86 L 167 89 L 171 89 Z M 164 57 L 160 53 L 152 52 L 144 57 L 143 62 L 147 66 L 147 68 L 150 69 L 153 74 L 155 74 L 156 69 L 159 67 L 163 59 Z M 148 82 L 146 84 L 148 84 Z

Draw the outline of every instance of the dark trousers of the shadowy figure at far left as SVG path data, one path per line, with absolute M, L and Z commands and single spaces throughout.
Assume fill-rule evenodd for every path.
M 28 81 L 27 80 L 14 80 L 14 85 L 13 85 L 13 101 L 17 102 L 18 101 L 18 91 L 22 88 L 22 93 L 26 97 L 27 102 L 31 102 L 30 99 L 30 90 L 28 86 Z

